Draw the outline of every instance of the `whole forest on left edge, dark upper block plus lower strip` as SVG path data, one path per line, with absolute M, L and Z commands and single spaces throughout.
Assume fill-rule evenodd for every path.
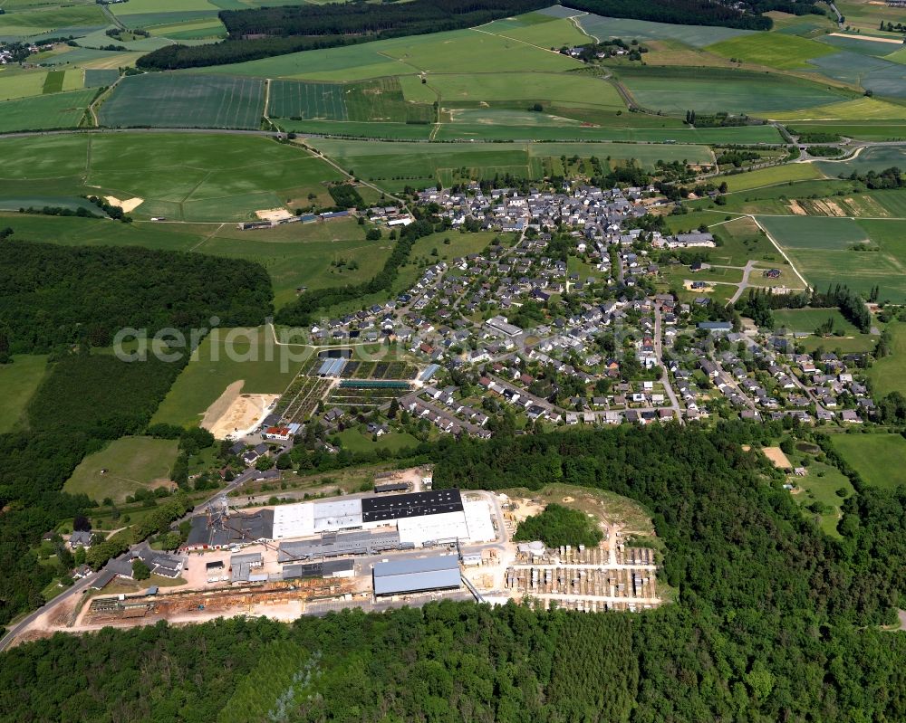
M 43 604 L 53 569 L 37 564 L 35 543 L 91 507 L 64 494 L 63 483 L 86 454 L 146 428 L 187 357 L 127 363 L 90 345 L 109 342 L 120 326 L 186 330 L 214 315 L 257 325 L 271 311 L 270 281 L 255 263 L 8 239 L 4 250 L 0 347 L 52 354 L 24 425 L 0 434 L 0 624 Z

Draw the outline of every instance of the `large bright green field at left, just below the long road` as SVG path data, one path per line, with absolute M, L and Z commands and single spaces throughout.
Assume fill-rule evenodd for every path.
M 186 138 L 116 133 L 0 139 L 0 197 L 102 192 L 142 199 L 132 212 L 138 218 L 229 222 L 255 218 L 256 210 L 308 206 L 312 193 L 330 205 L 324 183 L 342 178 L 302 148 L 270 138 Z

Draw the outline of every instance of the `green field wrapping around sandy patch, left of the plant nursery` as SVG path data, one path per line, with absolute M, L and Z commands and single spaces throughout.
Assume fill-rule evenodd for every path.
M 207 407 L 240 379 L 244 381 L 244 394 L 282 394 L 304 359 L 291 357 L 288 347 L 272 346 L 271 339 L 270 329 L 264 327 L 235 332 L 218 329 L 216 344 L 207 336 L 160 403 L 151 423 L 198 426 Z M 271 359 L 267 358 L 268 347 Z M 216 354 L 212 354 L 212 348 Z M 301 356 L 300 348 L 293 347 L 293 352 Z

